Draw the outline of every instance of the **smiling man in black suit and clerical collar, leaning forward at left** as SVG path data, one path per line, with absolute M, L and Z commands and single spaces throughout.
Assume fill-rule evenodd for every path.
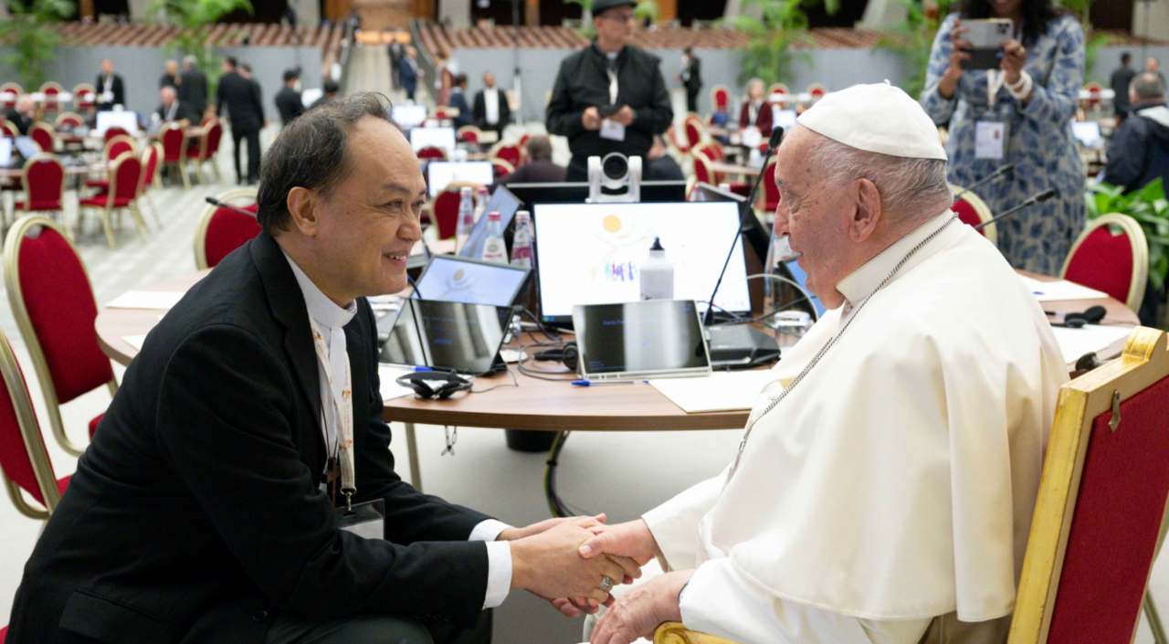
M 594 519 L 512 528 L 394 472 L 365 296 L 406 288 L 427 193 L 388 108 L 358 95 L 277 137 L 263 231 L 146 338 L 7 644 L 484 642 L 509 588 L 604 602 L 638 574 L 580 558 Z M 351 504 L 383 518 L 351 532 Z

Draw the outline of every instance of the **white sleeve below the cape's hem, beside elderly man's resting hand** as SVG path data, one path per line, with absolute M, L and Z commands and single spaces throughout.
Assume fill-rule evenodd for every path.
M 699 566 L 680 608 L 687 629 L 741 644 L 916 644 L 931 622 L 858 619 L 782 600 L 742 576 L 729 559 Z

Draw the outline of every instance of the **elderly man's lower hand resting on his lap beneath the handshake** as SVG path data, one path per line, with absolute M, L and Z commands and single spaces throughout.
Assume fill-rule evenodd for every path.
M 589 644 L 630 644 L 652 637 L 662 622 L 680 622 L 678 594 L 693 575 L 693 570 L 666 573 L 625 593 L 601 616 Z

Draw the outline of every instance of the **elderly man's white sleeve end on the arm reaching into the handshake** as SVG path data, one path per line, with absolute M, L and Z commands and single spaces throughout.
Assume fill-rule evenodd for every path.
M 665 555 L 663 569 L 683 570 L 698 562 L 698 525 L 722 492 L 726 470 L 642 515 Z

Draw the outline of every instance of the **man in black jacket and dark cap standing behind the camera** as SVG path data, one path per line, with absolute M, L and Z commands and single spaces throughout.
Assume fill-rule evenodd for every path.
M 569 181 L 588 180 L 589 157 L 644 157 L 653 134 L 665 132 L 673 119 L 662 61 L 628 44 L 635 6 L 632 0 L 596 0 L 596 40 L 560 64 L 547 126 L 549 133 L 568 137 Z

